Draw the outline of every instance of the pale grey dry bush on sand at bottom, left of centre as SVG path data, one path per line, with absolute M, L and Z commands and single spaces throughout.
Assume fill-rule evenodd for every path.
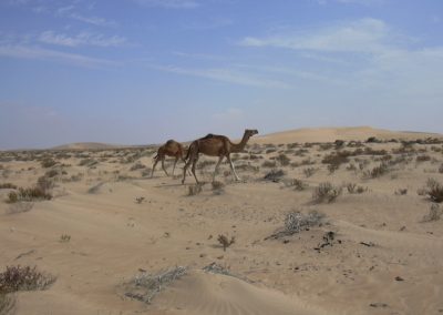
M 124 285 L 124 295 L 151 304 L 155 295 L 174 281 L 184 276 L 186 273 L 187 268 L 184 266 L 176 266 L 155 274 L 142 272 L 130 283 Z

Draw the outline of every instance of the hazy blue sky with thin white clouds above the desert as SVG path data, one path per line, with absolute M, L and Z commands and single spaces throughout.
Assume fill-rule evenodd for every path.
M 0 150 L 442 118 L 441 0 L 0 0 Z

